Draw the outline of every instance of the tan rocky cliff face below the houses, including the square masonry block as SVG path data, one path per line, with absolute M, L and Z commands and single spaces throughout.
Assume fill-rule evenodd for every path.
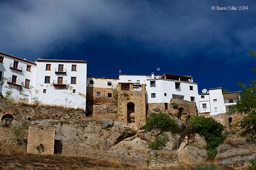
M 31 153 L 51 153 L 53 149 L 56 154 L 114 159 L 138 166 L 170 166 L 177 162 L 199 162 L 207 158 L 202 154 L 206 151 L 197 143 L 198 137 L 189 134 L 189 128 L 178 119 L 176 122 L 179 128 L 175 133 L 160 132 L 157 129 L 145 132 L 145 122 L 138 125 L 107 118 L 86 117 L 82 110 L 12 104 L 4 100 L 0 102 L 0 108 L 1 116 L 13 115 L 12 124 L 16 126 L 27 127 L 27 117 L 31 117 L 28 133 L 28 146 L 31 146 L 28 152 Z M 48 132 L 48 129 L 51 131 Z M 3 132 L 1 142 L 9 144 L 10 128 L 1 126 L 0 131 Z M 167 146 L 163 150 L 147 149 L 147 140 L 153 141 L 158 135 L 168 136 Z M 195 147 L 192 148 L 195 152 L 192 153 L 187 145 L 193 143 L 195 146 L 190 147 Z M 184 155 L 190 156 L 186 158 Z M 193 155 L 197 155 L 196 159 Z

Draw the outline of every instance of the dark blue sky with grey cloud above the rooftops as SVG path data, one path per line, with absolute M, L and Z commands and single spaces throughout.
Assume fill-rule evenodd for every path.
M 229 6 L 237 10 L 217 10 Z M 236 82 L 255 77 L 255 16 L 253 1 L 0 1 L 0 51 L 86 60 L 90 76 L 160 67 L 159 74 L 193 75 L 199 93 L 239 91 Z

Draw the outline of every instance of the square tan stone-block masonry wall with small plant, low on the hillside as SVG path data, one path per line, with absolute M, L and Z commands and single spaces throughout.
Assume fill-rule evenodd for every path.
M 27 153 L 53 154 L 55 128 L 31 124 L 28 129 Z

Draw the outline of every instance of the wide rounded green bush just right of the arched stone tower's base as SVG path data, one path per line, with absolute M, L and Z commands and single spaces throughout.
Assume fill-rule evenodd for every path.
M 151 113 L 149 117 L 146 118 L 144 130 L 150 131 L 153 128 L 158 128 L 161 131 L 169 130 L 174 132 L 175 128 L 178 128 L 178 124 L 166 113 Z

